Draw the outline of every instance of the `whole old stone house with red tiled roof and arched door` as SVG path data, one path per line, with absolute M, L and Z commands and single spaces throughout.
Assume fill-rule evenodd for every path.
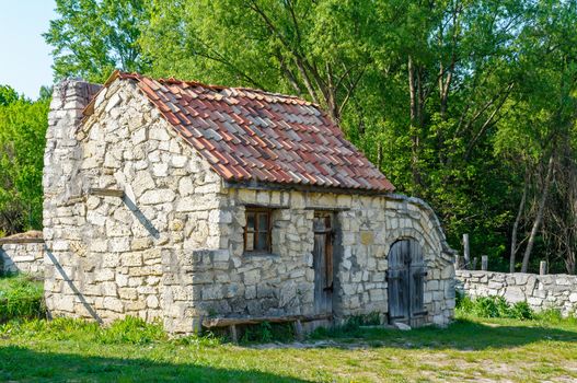
M 44 174 L 53 316 L 379 314 L 447 324 L 453 252 L 314 104 L 115 72 L 55 88 Z

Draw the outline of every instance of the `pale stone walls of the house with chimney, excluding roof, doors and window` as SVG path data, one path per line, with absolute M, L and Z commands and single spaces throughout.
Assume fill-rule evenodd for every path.
M 208 315 L 314 312 L 314 210 L 334 211 L 337 318 L 388 311 L 386 254 L 419 242 L 426 322 L 453 315 L 452 253 L 423 201 L 224 185 L 128 80 L 55 89 L 45 155 L 45 294 L 51 315 L 160 318 L 191 333 Z M 95 189 L 122 190 L 114 197 Z M 274 208 L 273 254 L 243 254 L 245 207 Z

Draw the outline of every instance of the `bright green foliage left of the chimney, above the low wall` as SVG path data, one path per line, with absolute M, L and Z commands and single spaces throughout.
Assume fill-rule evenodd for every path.
M 42 229 L 48 98 L 0 105 L 0 233 Z

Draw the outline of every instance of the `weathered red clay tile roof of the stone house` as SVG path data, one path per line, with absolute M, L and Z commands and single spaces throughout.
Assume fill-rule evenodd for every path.
M 392 192 L 394 186 L 316 105 L 296 96 L 175 79 L 134 80 L 228 182 Z

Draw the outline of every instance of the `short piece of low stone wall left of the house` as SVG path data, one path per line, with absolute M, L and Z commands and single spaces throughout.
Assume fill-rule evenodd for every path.
M 44 240 L 42 237 L 0 239 L 0 274 L 44 274 Z

